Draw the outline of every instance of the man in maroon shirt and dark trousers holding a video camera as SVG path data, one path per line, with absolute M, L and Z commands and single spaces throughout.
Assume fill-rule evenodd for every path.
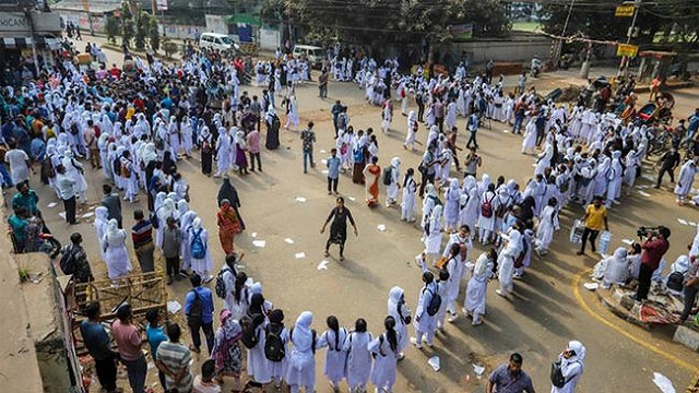
M 657 230 L 647 230 L 641 227 L 640 231 L 644 231 L 645 241 L 641 245 L 641 269 L 638 274 L 638 289 L 633 300 L 643 301 L 648 299 L 648 291 L 651 288 L 651 278 L 653 272 L 657 269 L 660 261 L 670 248 L 670 229 L 664 226 L 657 227 Z M 639 234 L 641 235 L 641 234 Z

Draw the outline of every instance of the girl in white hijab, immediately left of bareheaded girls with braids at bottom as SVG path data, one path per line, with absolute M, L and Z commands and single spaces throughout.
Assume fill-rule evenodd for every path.
M 292 393 L 298 393 L 301 388 L 306 392 L 313 392 L 316 385 L 316 347 L 318 338 L 316 332 L 311 331 L 313 314 L 304 311 L 296 319 L 296 325 L 291 331 L 289 341 L 292 343 L 288 356 L 288 368 L 286 369 L 286 383 Z

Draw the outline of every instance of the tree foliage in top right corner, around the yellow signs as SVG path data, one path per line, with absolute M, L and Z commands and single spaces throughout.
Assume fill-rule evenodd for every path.
M 566 28 L 566 36 L 625 43 L 631 17 L 614 15 L 615 2 L 574 5 Z M 570 3 L 543 5 L 541 16 L 546 33 L 562 33 Z M 637 45 L 664 46 L 671 50 L 696 50 L 699 39 L 699 0 L 642 1 L 638 9 L 636 27 Z

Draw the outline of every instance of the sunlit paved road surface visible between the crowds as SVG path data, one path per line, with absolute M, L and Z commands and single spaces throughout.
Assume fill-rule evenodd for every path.
M 108 51 L 110 58 L 116 55 Z M 259 93 L 254 87 L 247 90 L 251 94 Z M 684 90 L 676 94 L 680 102 L 678 105 L 691 107 L 691 99 L 697 93 L 697 90 Z M 329 95 L 322 102 L 317 98 L 315 85 L 298 88 L 303 122 L 313 119 L 317 123 L 317 160 L 323 157 L 322 150 L 330 151 L 333 145 L 329 110 L 334 99 L 341 98 L 350 105 L 355 129 L 378 129 L 380 126 L 379 109 L 364 103 L 362 91 L 356 85 L 331 83 Z M 390 135 L 378 135 L 380 164 L 399 156 L 403 163 L 402 170 L 415 168 L 419 160 L 417 154 L 401 148 L 404 122 L 399 111 Z M 464 126 L 465 120 L 460 119 L 460 129 L 463 130 Z M 493 123 L 493 130 L 482 130 L 482 172 L 490 174 L 491 178 L 503 175 L 523 184 L 533 172 L 533 158 L 519 153 L 520 138 L 503 132 L 505 129 L 503 124 Z M 424 140 L 425 136 L 420 132 L 418 139 Z M 460 144 L 465 142 L 464 138 L 462 133 Z M 325 238 L 318 231 L 334 204 L 324 189 L 322 166 L 304 175 L 299 135 L 287 131 L 282 134 L 280 150 L 262 152 L 262 165 L 263 174 L 233 177 L 242 199 L 241 213 L 248 226 L 236 243 L 246 252 L 246 272 L 261 281 L 266 297 L 284 309 L 287 326 L 300 311 L 312 310 L 313 326 L 319 331 L 324 330 L 325 317 L 335 314 L 344 326 L 352 326 L 356 318 L 364 317 L 369 322 L 369 330 L 378 334 L 387 311 L 388 291 L 394 285 L 405 288 L 406 300 L 414 309 L 420 272 L 412 261 L 423 248 L 416 227 L 402 223 L 396 210 L 383 206 L 368 210 L 363 203 L 364 189 L 353 184 L 348 176 L 343 176 L 340 191 L 355 199 L 348 200 L 347 205 L 358 223 L 359 236 L 350 236 L 344 262 L 330 258 L 328 270 L 319 271 L 317 265 L 323 260 Z M 191 205 L 210 233 L 215 233 L 214 194 L 220 180 L 202 177 L 197 157 L 179 163 L 179 167 L 191 184 Z M 102 175 L 88 170 L 88 180 L 92 186 L 88 198 L 97 201 Z M 93 255 L 93 269 L 97 275 L 106 276 L 104 266 L 98 262 L 92 226 L 86 223 L 69 228 L 61 223 L 57 210 L 45 207 L 55 196 L 37 183 L 38 180 L 33 182 L 42 196 L 49 226 L 63 241 L 73 229 L 82 231 Z M 672 248 L 667 254 L 672 262 L 694 236 L 694 228 L 679 225 L 675 217 L 694 218 L 696 211 L 676 206 L 668 190 L 651 190 L 649 193 L 651 198 L 644 198 L 635 190 L 611 212 L 611 228 L 615 236 L 613 247 L 617 247 L 623 238 L 632 238 L 640 225 L 663 224 L 673 230 Z M 306 198 L 306 202 L 296 202 L 296 196 Z M 382 190 L 382 201 L 383 198 Z M 127 205 L 127 226 L 130 225 L 132 207 Z M 511 299 L 495 295 L 495 283 L 490 285 L 484 325 L 472 327 L 470 320 L 461 318 L 447 326 L 446 334 L 438 336 L 434 352 L 420 353 L 411 347 L 406 359 L 399 366 L 400 377 L 394 391 L 484 392 L 485 380 L 474 377 L 471 364 L 485 364 L 488 367 L 486 372 L 489 372 L 516 350 L 524 356 L 524 369 L 532 374 L 537 391 L 547 391 L 549 364 L 569 340 L 579 340 L 588 347 L 580 392 L 654 392 L 656 388 L 651 381 L 654 371 L 671 378 L 679 390 L 686 386 L 697 371 L 697 354 L 672 343 L 672 332 L 667 329 L 647 332 L 617 320 L 600 307 L 592 294 L 573 285 L 596 262 L 592 258 L 574 257 L 574 250 L 567 241 L 571 219 L 581 214 L 582 209 L 574 205 L 561 214 L 564 233 L 555 240 L 552 252 L 544 259 L 534 259 L 524 279 L 516 282 L 516 295 Z M 384 224 L 387 230 L 377 230 L 379 224 Z M 257 239 L 266 240 L 265 248 L 251 245 L 253 233 Z M 295 243 L 285 243 L 286 237 L 294 239 Z M 223 252 L 216 242 L 212 246 L 220 266 Z M 296 259 L 298 252 L 304 252 L 306 258 Z M 479 252 L 481 248 L 476 247 L 473 257 Z M 581 282 L 584 283 L 584 277 Z M 180 302 L 188 289 L 187 282 L 169 287 L 171 298 Z M 440 372 L 427 366 L 433 353 L 441 357 Z M 321 355 L 317 367 L 318 392 L 330 392 L 322 377 Z M 151 382 L 156 381 L 155 376 L 150 378 Z

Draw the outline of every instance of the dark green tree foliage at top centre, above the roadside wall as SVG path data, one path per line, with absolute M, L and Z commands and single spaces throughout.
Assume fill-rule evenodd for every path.
M 443 41 L 454 24 L 472 23 L 474 37 L 505 36 L 511 27 L 498 0 L 268 0 L 262 14 L 288 17 L 316 36 L 374 45 Z

